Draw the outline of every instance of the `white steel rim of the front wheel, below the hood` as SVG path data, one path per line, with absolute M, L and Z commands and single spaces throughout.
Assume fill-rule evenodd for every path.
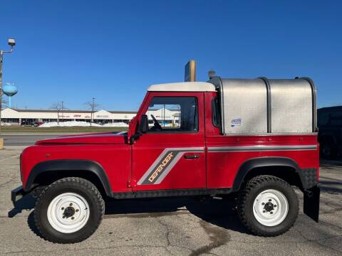
M 76 193 L 63 193 L 48 205 L 48 223 L 61 233 L 74 233 L 88 222 L 88 202 Z

